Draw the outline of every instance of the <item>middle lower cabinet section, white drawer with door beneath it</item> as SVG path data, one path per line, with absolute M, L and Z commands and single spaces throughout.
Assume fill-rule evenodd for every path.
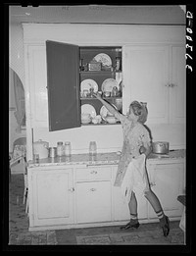
M 75 222 L 110 222 L 112 216 L 111 167 L 75 170 Z

